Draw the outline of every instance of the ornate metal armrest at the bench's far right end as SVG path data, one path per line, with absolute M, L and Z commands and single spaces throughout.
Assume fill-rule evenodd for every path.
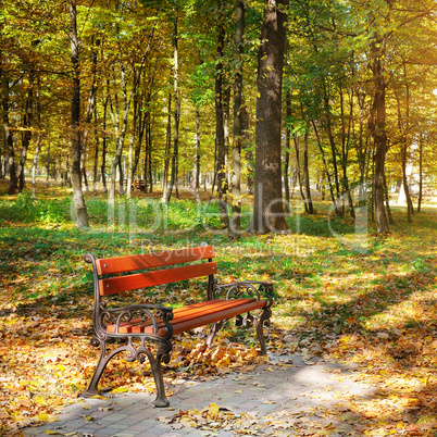
M 213 299 L 225 297 L 230 298 L 255 298 L 257 300 L 266 299 L 267 307 L 273 304 L 273 284 L 262 280 L 239 280 L 230 284 L 214 284 Z

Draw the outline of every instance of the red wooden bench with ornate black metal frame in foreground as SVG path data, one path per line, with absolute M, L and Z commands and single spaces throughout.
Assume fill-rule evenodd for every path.
M 162 362 L 168 364 L 173 336 L 212 325 L 207 339 L 211 346 L 223 323 L 237 317 L 237 325 L 253 324 L 266 353 L 263 326 L 272 315 L 273 286 L 263 282 L 236 282 L 218 285 L 214 278 L 217 266 L 213 261 L 214 248 L 200 246 L 180 250 L 129 257 L 97 259 L 85 255 L 93 267 L 93 328 L 91 345 L 100 347 L 100 359 L 84 397 L 99 394 L 98 384 L 108 362 L 117 353 L 127 352 L 127 361 L 150 362 L 157 386 L 157 407 L 167 407 L 163 383 Z M 109 300 L 118 294 L 172 284 L 196 277 L 208 278 L 207 300 L 182 308 L 132 302 L 116 307 Z M 145 294 L 146 296 L 146 294 Z M 255 317 L 251 311 L 259 311 Z M 242 317 L 241 314 L 245 314 Z M 116 341 L 111 349 L 109 340 Z

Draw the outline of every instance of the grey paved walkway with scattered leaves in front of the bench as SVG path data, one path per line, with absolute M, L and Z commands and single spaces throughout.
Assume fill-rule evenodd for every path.
M 249 373 L 176 380 L 167 388 L 174 390 L 167 409 L 154 408 L 154 396 L 147 392 L 79 399 L 58 422 L 22 432 L 76 437 L 362 435 L 365 427 L 347 398 L 372 397 L 374 390 L 353 380 L 353 369 L 302 355 L 271 357 Z

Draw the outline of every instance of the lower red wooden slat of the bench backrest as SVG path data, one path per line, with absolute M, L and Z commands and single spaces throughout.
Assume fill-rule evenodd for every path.
M 99 280 L 100 296 L 115 295 L 121 291 L 138 288 L 153 287 L 155 285 L 170 284 L 192 277 L 214 275 L 215 262 L 191 264 L 183 267 L 174 267 L 147 273 L 136 273 L 126 276 L 110 277 Z

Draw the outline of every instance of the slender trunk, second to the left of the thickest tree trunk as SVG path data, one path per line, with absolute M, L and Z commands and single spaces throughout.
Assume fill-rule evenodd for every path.
M 215 139 L 217 146 L 216 180 L 218 191 L 218 208 L 222 227 L 229 228 L 229 216 L 227 212 L 227 178 L 226 178 L 226 145 L 224 127 L 224 92 L 223 92 L 223 52 L 225 43 L 225 28 L 223 18 L 223 1 L 218 0 L 221 16 L 218 17 L 217 29 L 217 63 L 215 67 Z

